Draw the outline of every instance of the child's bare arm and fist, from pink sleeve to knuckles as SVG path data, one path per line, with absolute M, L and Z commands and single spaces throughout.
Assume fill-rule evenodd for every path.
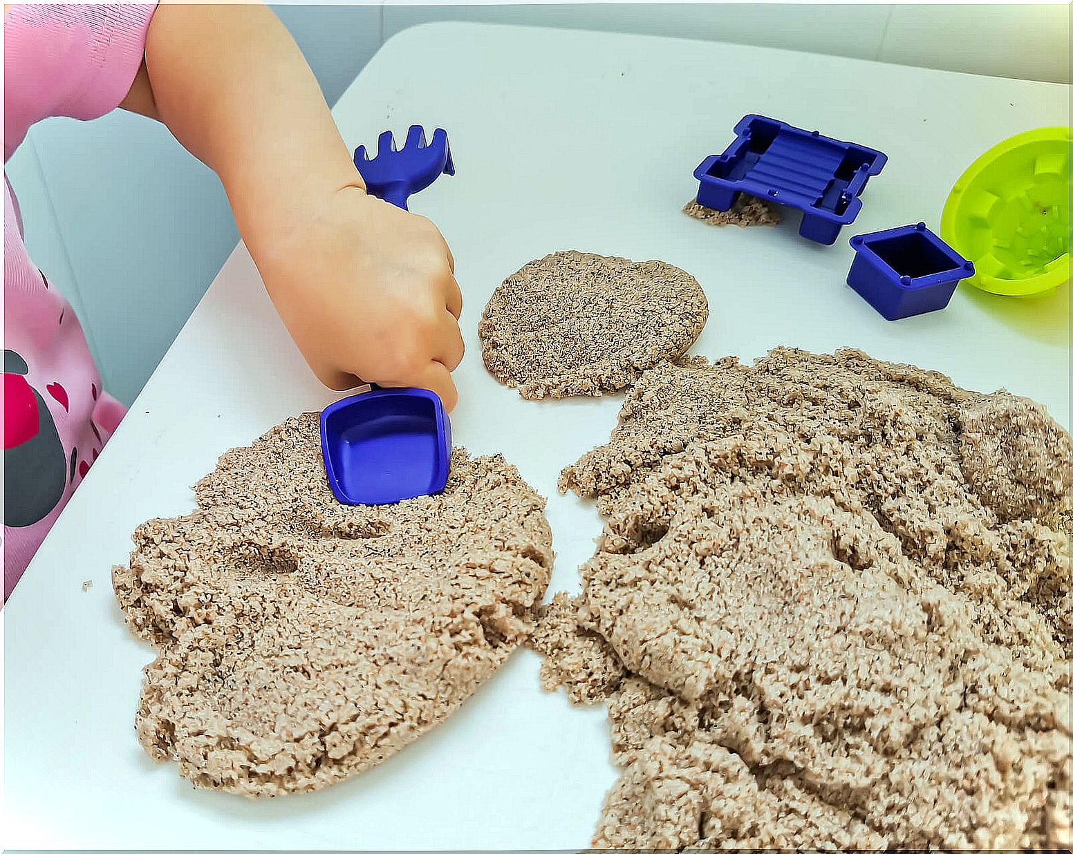
M 365 193 L 290 34 L 261 5 L 161 5 L 124 105 L 223 182 L 276 308 L 326 385 L 435 391 L 450 409 L 461 292 L 436 226 Z

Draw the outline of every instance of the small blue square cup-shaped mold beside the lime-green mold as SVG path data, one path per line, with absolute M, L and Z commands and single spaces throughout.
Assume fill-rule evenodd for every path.
M 946 308 L 971 261 L 923 222 L 850 238 L 856 252 L 846 283 L 887 320 Z

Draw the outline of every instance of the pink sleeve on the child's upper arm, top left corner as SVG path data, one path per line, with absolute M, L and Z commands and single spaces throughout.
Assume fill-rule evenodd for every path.
M 92 119 L 127 97 L 155 3 L 16 3 L 3 16 L 4 161 L 35 121 Z

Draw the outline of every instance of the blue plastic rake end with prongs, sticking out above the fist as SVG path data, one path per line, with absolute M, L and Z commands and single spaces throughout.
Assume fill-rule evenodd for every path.
M 437 128 L 432 141 L 425 142 L 425 129 L 410 128 L 402 148 L 395 147 L 395 136 L 384 131 L 377 141 L 377 154 L 370 158 L 364 145 L 354 151 L 354 165 L 365 179 L 371 195 L 408 210 L 407 200 L 421 192 L 441 175 L 454 175 L 447 132 Z

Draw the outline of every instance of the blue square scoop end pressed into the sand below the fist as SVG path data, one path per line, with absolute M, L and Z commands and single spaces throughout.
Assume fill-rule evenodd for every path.
M 451 422 L 435 392 L 378 388 L 321 413 L 328 486 L 343 504 L 395 504 L 443 491 Z

